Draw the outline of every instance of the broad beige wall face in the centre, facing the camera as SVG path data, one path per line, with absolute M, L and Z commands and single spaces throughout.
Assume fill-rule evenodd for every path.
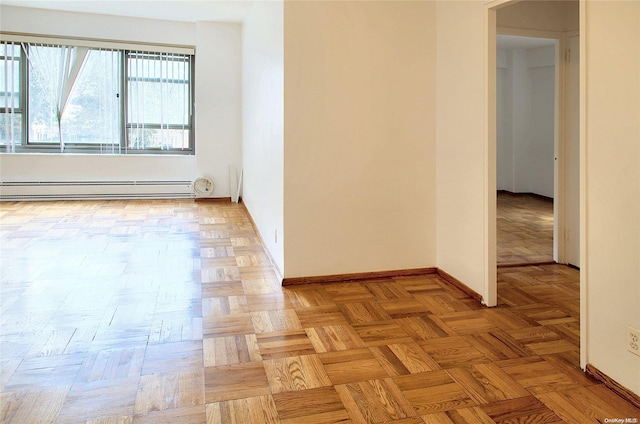
M 435 265 L 434 7 L 285 3 L 285 277 Z

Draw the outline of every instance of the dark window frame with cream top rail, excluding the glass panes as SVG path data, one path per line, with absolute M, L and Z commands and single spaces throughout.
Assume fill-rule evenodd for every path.
M 114 155 L 195 155 L 195 51 L 190 47 L 182 46 L 147 46 L 142 44 L 120 43 L 116 41 L 104 40 L 74 40 L 74 39 L 49 39 L 37 36 L 6 36 L 0 34 L 0 41 L 3 43 L 13 42 L 20 46 L 19 74 L 20 74 L 20 108 L 13 109 L 13 113 L 22 115 L 21 122 L 21 140 L 13 145 L 10 150 L 9 144 L 0 145 L 0 154 L 4 153 L 56 153 L 56 154 L 114 154 Z M 60 143 L 34 143 L 29 140 L 29 62 L 27 54 L 24 51 L 23 44 L 27 46 L 31 43 L 48 46 L 83 46 L 90 50 L 117 50 L 120 60 L 120 81 L 119 81 L 119 139 L 112 144 L 92 144 L 92 143 L 74 143 L 65 142 L 64 151 L 61 151 Z M 145 147 L 130 148 L 128 141 L 128 131 L 130 128 L 127 116 L 128 109 L 128 81 L 129 71 L 127 66 L 127 58 L 131 53 L 152 53 L 162 55 L 171 53 L 185 57 L 188 64 L 188 117 L 187 124 L 151 124 L 144 125 L 144 128 L 159 129 L 180 129 L 188 130 L 188 147 L 186 148 L 162 148 L 162 147 Z M 10 108 L 0 107 L 0 113 L 10 113 Z M 135 127 L 135 123 L 132 124 Z

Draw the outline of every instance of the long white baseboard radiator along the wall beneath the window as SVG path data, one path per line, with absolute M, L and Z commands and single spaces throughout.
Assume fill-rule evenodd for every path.
M 2 181 L 0 201 L 188 199 L 191 181 Z

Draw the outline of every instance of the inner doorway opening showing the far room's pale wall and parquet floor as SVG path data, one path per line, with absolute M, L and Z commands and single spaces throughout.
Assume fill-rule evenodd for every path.
M 496 41 L 497 263 L 553 263 L 559 39 L 498 29 Z

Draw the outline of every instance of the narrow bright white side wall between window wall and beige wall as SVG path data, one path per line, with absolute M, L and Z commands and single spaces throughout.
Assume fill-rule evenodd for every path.
M 243 24 L 243 201 L 284 270 L 283 2 L 256 2 Z M 277 233 L 277 235 L 276 235 Z

